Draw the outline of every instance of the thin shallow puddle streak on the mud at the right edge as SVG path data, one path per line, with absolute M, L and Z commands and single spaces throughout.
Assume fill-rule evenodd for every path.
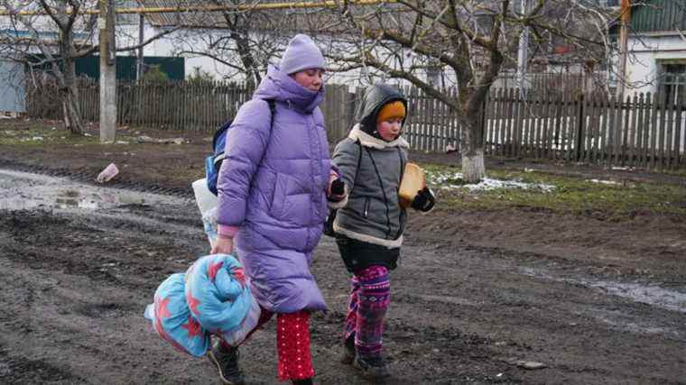
M 555 280 L 558 282 L 567 282 L 588 288 L 600 289 L 605 291 L 607 294 L 617 297 L 628 298 L 638 303 L 647 304 L 654 307 L 661 307 L 666 310 L 672 310 L 686 314 L 686 292 L 663 289 L 657 284 L 616 282 L 609 280 L 589 280 L 586 278 L 559 278 L 554 277 L 549 273 L 542 272 L 541 270 L 534 270 L 531 268 L 522 268 L 522 271 L 524 272 L 524 275 L 531 277 L 544 278 L 546 280 Z M 686 290 L 686 288 L 682 289 Z

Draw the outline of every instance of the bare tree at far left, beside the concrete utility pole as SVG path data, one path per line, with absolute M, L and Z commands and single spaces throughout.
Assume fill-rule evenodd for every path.
M 47 69 L 57 82 L 64 125 L 72 133 L 83 133 L 76 77 L 76 60 L 97 52 L 93 44 L 97 17 L 83 11 L 97 9 L 97 0 L 0 0 L 0 10 L 10 14 L 4 24 L 14 33 L 5 37 L 0 56 L 21 61 L 31 69 Z M 36 13 L 27 15 L 28 13 Z M 161 32 L 146 45 L 173 32 Z M 138 46 L 117 48 L 134 50 Z

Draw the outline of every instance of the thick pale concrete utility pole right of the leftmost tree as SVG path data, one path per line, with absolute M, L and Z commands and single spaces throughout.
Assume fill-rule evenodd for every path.
M 115 142 L 116 43 L 115 1 L 100 0 L 97 18 L 100 41 L 100 142 Z

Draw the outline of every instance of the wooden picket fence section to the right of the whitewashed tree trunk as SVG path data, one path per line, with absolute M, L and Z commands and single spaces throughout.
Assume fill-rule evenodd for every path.
M 522 98 L 514 89 L 488 97 L 485 151 L 490 155 L 571 160 L 645 169 L 686 166 L 686 103 L 637 94 Z M 659 97 L 658 97 L 659 99 Z

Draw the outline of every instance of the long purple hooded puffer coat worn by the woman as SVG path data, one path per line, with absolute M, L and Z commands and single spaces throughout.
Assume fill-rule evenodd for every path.
M 276 313 L 326 310 L 310 273 L 328 214 L 331 162 L 320 102 L 276 67 L 241 106 L 218 177 L 218 223 L 235 245 L 259 304 Z M 273 127 L 268 99 L 275 101 Z

